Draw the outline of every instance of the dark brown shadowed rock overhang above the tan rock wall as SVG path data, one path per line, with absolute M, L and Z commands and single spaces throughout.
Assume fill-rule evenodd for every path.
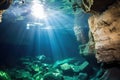
M 103 12 L 116 0 L 82 0 L 81 8 L 85 12 Z

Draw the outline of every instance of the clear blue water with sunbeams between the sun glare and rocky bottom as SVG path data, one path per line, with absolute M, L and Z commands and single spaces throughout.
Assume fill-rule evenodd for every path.
M 1 59 L 9 63 L 22 56 L 41 54 L 51 61 L 78 56 L 79 42 L 73 32 L 74 14 L 50 8 L 46 20 L 38 19 L 31 15 L 30 6 L 32 4 L 12 4 L 3 14 L 0 24 Z M 55 6 L 52 4 L 50 7 Z

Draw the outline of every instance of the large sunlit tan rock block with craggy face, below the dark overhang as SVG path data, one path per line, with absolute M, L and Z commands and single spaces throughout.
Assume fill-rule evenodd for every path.
M 89 18 L 100 62 L 120 61 L 120 1 Z

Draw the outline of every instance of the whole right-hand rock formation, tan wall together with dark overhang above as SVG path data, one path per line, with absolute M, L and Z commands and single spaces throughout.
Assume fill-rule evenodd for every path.
M 95 53 L 99 62 L 120 61 L 120 0 L 77 0 L 75 4 L 92 15 L 88 20 L 92 35 L 82 52 Z

